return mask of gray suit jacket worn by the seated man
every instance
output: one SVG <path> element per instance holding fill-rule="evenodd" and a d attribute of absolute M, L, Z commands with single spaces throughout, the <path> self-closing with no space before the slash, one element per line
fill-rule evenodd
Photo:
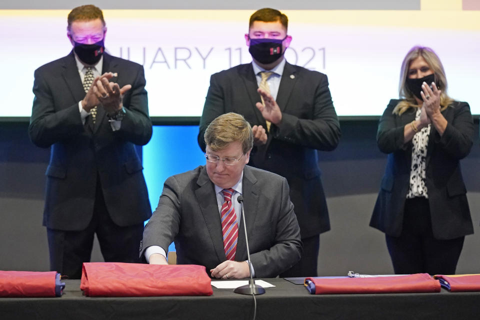
<path fill-rule="evenodd" d="M 256 277 L 273 277 L 295 264 L 301 253 L 300 230 L 286 179 L 245 165 L 242 195 L 250 257 Z M 235 260 L 246 260 L 240 220 Z M 206 168 L 169 177 L 158 207 L 143 231 L 143 251 L 174 240 L 178 264 L 204 265 L 207 270 L 226 260 L 214 185 Z"/>

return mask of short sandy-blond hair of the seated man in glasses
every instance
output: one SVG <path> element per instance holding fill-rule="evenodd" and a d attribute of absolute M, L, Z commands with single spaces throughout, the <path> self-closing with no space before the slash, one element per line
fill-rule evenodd
<path fill-rule="evenodd" d="M 253 132 L 250 123 L 234 112 L 217 116 L 208 124 L 203 135 L 206 145 L 213 151 L 219 151 L 231 142 L 240 142 L 243 154 L 253 146 Z"/>

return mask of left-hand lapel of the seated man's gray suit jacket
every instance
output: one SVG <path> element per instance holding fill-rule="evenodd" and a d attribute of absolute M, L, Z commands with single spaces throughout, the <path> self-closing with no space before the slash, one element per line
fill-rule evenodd
<path fill-rule="evenodd" d="M 225 261 L 225 251 L 223 250 L 223 240 L 221 234 L 220 212 L 216 202 L 215 187 L 206 174 L 206 168 L 203 167 L 197 179 L 198 189 L 195 190 L 196 200 L 200 206 L 203 220 L 210 234 L 210 238 L 219 261 Z"/>

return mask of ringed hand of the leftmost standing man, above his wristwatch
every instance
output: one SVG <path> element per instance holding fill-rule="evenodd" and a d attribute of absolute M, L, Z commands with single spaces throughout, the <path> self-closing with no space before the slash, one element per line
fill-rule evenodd
<path fill-rule="evenodd" d="M 106 74 L 111 74 L 111 76 L 103 76 Z M 118 83 L 108 81 L 113 77 L 113 73 L 107 72 L 103 75 L 95 82 L 95 85 L 92 85 L 92 90 L 105 111 L 113 114 L 121 109 L 123 94 L 131 88 L 131 85 L 126 84 L 120 88 Z"/>

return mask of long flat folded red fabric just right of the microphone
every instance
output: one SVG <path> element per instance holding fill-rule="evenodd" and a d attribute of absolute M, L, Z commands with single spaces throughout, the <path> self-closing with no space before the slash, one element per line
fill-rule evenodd
<path fill-rule="evenodd" d="M 440 292 L 440 282 L 428 273 L 358 278 L 306 278 L 315 294 Z"/>

